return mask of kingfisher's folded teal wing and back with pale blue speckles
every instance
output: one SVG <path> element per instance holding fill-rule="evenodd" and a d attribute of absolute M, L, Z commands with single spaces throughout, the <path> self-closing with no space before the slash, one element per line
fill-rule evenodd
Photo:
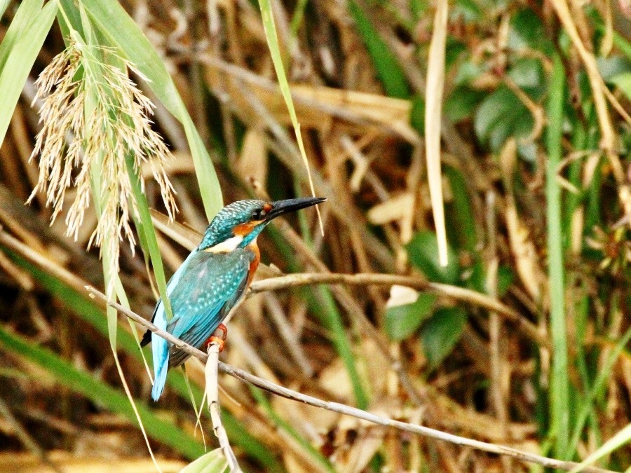
<path fill-rule="evenodd" d="M 194 347 L 204 343 L 245 292 L 253 257 L 242 248 L 192 255 L 169 296 L 173 318 L 167 331 Z M 179 364 L 179 353 L 172 352 L 170 366 Z"/>

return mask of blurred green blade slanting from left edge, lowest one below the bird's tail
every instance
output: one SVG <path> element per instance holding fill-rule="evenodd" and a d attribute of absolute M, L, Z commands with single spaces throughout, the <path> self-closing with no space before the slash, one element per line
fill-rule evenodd
<path fill-rule="evenodd" d="M 135 422 L 136 416 L 127 396 L 95 380 L 90 374 L 75 369 L 50 350 L 30 343 L 21 336 L 11 334 L 4 327 L 0 327 L 0 346 L 7 352 L 38 364 L 46 369 L 58 383 L 74 392 L 80 392 L 103 409 L 121 414 L 131 422 Z M 203 455 L 204 447 L 198 439 L 185 434 L 175 425 L 165 422 L 142 402 L 137 402 L 137 409 L 150 437 L 175 448 L 191 460 Z"/>

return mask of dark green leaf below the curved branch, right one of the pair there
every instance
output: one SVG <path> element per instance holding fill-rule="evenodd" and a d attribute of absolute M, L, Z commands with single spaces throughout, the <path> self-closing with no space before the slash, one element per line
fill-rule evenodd
<path fill-rule="evenodd" d="M 423 325 L 421 342 L 431 368 L 438 366 L 460 340 L 467 322 L 463 308 L 442 308 Z"/>

